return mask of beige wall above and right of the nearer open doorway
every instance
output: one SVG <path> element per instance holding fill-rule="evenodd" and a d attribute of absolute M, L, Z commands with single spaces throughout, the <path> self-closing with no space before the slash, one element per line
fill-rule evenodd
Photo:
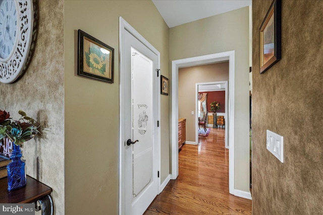
<path fill-rule="evenodd" d="M 170 60 L 231 50 L 235 50 L 235 189 L 249 191 L 249 7 L 170 29 Z"/>

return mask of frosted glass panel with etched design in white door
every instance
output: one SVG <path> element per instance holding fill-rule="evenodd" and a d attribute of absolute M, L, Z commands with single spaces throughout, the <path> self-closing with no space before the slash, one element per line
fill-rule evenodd
<path fill-rule="evenodd" d="M 131 48 L 133 197 L 152 179 L 152 83 L 153 61 Z"/>

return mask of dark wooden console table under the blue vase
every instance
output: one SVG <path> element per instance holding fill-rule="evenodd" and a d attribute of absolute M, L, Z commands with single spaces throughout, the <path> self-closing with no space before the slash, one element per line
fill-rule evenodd
<path fill-rule="evenodd" d="M 52 191 L 47 185 L 27 175 L 25 187 L 8 191 L 7 177 L 0 179 L 0 203 L 35 203 L 36 211 L 41 210 L 42 215 L 53 214 Z M 37 206 L 37 201 L 40 206 Z"/>

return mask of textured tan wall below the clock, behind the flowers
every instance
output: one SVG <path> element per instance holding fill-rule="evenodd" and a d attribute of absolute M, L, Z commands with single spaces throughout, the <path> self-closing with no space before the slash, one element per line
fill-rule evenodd
<path fill-rule="evenodd" d="M 0 84 L 0 109 L 13 118 L 19 118 L 22 109 L 42 124 L 46 141 L 37 138 L 23 144 L 26 173 L 53 189 L 56 214 L 64 214 L 63 1 L 42 0 L 38 8 L 33 58 L 18 82 Z"/>

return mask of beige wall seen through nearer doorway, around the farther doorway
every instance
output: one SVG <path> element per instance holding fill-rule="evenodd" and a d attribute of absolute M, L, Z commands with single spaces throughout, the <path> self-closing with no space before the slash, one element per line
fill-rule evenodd
<path fill-rule="evenodd" d="M 186 118 L 186 141 L 195 142 L 195 84 L 229 80 L 229 62 L 178 70 L 178 117 Z M 196 122 L 197 123 L 197 122 Z"/>

